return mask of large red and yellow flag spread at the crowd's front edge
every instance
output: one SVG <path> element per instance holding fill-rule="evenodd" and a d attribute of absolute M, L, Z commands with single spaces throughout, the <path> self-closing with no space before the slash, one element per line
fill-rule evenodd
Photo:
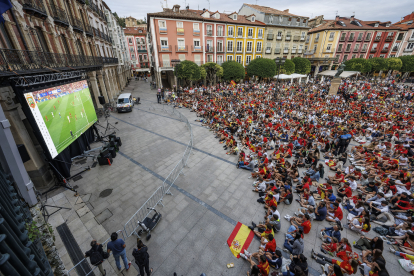
<path fill-rule="evenodd" d="M 249 248 L 253 237 L 254 233 L 249 229 L 249 227 L 240 222 L 237 223 L 229 239 L 227 240 L 230 251 L 236 258 L 240 258 L 240 252 L 243 252 L 245 249 Z"/>

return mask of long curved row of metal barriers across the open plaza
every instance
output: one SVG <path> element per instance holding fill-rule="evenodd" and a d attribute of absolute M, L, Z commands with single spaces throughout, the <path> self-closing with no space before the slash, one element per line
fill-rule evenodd
<path fill-rule="evenodd" d="M 155 110 L 156 106 L 158 106 L 158 104 L 153 104 L 148 108 L 148 110 Z M 171 109 L 168 110 L 169 108 Z M 164 207 L 164 205 L 162 204 L 162 199 L 164 195 L 172 195 L 172 193 L 170 192 L 171 186 L 174 184 L 178 176 L 182 173 L 184 167 L 187 165 L 188 158 L 190 157 L 190 153 L 193 150 L 193 130 L 188 119 L 183 114 L 181 114 L 181 112 L 175 109 L 174 106 L 163 104 L 162 110 L 164 112 L 171 112 L 171 114 L 177 116 L 180 119 L 180 121 L 186 123 L 187 128 L 190 131 L 190 141 L 187 144 L 183 157 L 180 161 L 178 161 L 174 169 L 165 178 L 165 180 L 162 183 L 162 186 L 158 187 L 158 189 L 147 199 L 147 201 L 138 209 L 138 211 L 136 211 L 135 214 L 127 221 L 127 223 L 125 223 L 124 231 L 127 238 L 129 238 L 132 234 L 135 234 L 140 238 L 137 229 L 141 228 L 140 222 L 144 221 L 145 218 L 147 218 L 148 215 L 151 213 L 151 210 L 149 210 L 148 208 L 155 208 L 158 204 Z"/>

